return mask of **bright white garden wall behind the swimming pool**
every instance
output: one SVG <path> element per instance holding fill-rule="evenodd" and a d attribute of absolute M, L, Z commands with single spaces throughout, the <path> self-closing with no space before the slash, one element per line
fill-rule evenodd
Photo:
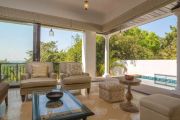
<path fill-rule="evenodd" d="M 127 60 L 128 73 L 154 75 L 177 75 L 176 60 Z"/>

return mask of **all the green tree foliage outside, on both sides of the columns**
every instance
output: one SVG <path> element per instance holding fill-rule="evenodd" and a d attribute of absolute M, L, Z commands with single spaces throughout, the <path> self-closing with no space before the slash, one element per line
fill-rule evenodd
<path fill-rule="evenodd" d="M 170 26 L 171 31 L 161 38 L 157 34 L 140 28 L 132 28 L 113 35 L 110 38 L 110 68 L 125 68 L 123 60 L 142 59 L 176 59 L 177 28 Z M 58 50 L 56 41 L 41 42 L 41 61 L 82 61 L 82 40 L 73 37 L 74 44 L 67 50 Z M 96 36 L 96 71 L 97 76 L 104 73 L 105 40 Z M 32 51 L 28 51 L 27 61 L 32 60 Z M 126 68 L 125 68 L 126 69 Z"/>

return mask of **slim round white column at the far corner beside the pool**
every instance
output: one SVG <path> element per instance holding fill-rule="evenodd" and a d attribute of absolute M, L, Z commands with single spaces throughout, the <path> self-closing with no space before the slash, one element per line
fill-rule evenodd
<path fill-rule="evenodd" d="M 109 77 L 109 39 L 110 35 L 105 35 L 105 71 L 103 77 Z"/>

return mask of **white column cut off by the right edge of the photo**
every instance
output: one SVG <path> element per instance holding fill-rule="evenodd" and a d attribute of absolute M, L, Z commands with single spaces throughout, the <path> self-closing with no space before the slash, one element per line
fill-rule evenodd
<path fill-rule="evenodd" d="M 180 8 L 174 10 L 177 16 L 177 87 L 180 90 Z"/>

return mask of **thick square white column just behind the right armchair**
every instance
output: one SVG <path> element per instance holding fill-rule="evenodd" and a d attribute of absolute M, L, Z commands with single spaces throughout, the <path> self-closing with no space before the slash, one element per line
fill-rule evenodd
<path fill-rule="evenodd" d="M 82 41 L 83 71 L 96 77 L 96 32 L 85 31 Z"/>

